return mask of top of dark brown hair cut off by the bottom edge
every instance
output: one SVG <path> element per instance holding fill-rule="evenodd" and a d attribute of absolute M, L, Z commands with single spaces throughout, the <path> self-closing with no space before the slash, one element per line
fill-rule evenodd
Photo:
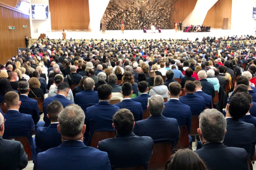
<path fill-rule="evenodd" d="M 189 149 L 178 150 L 166 163 L 165 170 L 207 170 L 197 153 Z"/>

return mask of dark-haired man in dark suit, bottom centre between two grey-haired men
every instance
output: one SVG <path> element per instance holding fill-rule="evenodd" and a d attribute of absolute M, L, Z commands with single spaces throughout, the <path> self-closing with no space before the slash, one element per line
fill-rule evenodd
<path fill-rule="evenodd" d="M 101 140 L 98 144 L 99 150 L 108 153 L 112 169 L 134 166 L 148 169 L 154 143 L 151 137 L 135 136 L 132 132 L 134 124 L 134 116 L 129 110 L 118 110 L 112 124 L 117 132 L 116 137 Z"/>

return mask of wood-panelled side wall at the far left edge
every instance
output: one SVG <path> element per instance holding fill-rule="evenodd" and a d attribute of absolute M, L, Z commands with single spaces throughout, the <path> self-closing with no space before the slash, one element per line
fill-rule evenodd
<path fill-rule="evenodd" d="M 0 63 L 5 64 L 17 55 L 18 47 L 25 47 L 25 36 L 30 37 L 30 19 L 29 15 L 6 7 L 0 6 L 0 11 Z M 15 30 L 9 30 L 8 26 L 15 26 Z"/>

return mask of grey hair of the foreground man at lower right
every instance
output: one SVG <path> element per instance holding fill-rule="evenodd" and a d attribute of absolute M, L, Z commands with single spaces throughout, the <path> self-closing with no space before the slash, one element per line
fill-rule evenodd
<path fill-rule="evenodd" d="M 204 110 L 199 118 L 203 139 L 207 142 L 223 142 L 227 126 L 223 114 L 213 108 Z"/>

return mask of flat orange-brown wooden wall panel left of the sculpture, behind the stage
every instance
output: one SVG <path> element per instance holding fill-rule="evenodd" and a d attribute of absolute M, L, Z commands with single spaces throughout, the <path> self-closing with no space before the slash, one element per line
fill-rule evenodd
<path fill-rule="evenodd" d="M 100 5 L 100 4 L 99 4 Z M 90 22 L 88 0 L 49 0 L 52 30 L 87 30 Z M 97 9 L 95 7 L 95 12 Z"/>

